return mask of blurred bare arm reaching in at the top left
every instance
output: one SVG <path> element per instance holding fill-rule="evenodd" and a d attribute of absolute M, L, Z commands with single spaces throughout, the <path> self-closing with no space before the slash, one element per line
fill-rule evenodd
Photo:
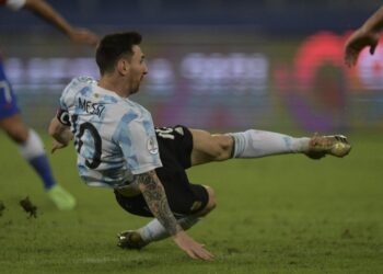
<path fill-rule="evenodd" d="M 96 45 L 98 37 L 88 30 L 76 28 L 69 24 L 49 3 L 44 0 L 25 0 L 24 9 L 27 9 L 47 22 L 55 25 L 68 37 L 78 43 Z"/>

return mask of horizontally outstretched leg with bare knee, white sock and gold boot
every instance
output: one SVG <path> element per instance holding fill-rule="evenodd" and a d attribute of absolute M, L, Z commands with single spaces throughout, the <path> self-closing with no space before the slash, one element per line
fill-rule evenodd
<path fill-rule="evenodd" d="M 326 155 L 346 156 L 351 147 L 341 135 L 312 138 L 248 129 L 242 133 L 210 134 L 190 129 L 193 134 L 192 165 L 230 158 L 259 158 L 282 153 L 305 153 L 312 159 Z"/>

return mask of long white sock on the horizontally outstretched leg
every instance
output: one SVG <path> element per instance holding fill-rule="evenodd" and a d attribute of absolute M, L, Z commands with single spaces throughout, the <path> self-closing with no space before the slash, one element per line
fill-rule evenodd
<path fill-rule="evenodd" d="M 234 138 L 233 158 L 258 158 L 270 155 L 299 153 L 309 149 L 310 138 L 294 138 L 288 135 L 248 129 L 230 133 Z"/>

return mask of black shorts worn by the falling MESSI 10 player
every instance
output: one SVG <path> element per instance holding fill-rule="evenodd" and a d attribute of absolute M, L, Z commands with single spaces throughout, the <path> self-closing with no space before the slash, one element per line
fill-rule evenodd
<path fill-rule="evenodd" d="M 184 126 L 155 128 L 162 168 L 155 170 L 169 205 L 176 218 L 206 207 L 209 195 L 202 185 L 192 184 L 185 172 L 192 164 L 193 136 Z M 134 215 L 153 217 L 142 195 L 123 196 L 115 191 L 118 204 Z"/>

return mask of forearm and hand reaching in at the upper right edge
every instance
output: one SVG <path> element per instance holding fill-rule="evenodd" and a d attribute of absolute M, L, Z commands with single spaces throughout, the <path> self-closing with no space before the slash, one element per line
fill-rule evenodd
<path fill-rule="evenodd" d="M 379 32 L 383 27 L 383 5 L 365 23 L 352 33 L 345 44 L 345 62 L 351 67 L 364 47 L 370 47 L 373 55 L 379 43 Z"/>

